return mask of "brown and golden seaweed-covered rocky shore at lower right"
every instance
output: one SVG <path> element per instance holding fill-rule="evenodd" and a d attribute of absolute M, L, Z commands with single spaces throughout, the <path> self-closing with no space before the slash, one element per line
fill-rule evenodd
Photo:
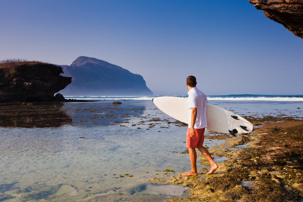
<path fill-rule="evenodd" d="M 168 202 L 302 200 L 303 120 L 248 119 L 257 125 L 253 133 L 230 138 L 223 145 L 210 149 L 212 156 L 228 159 L 218 163 L 215 174 L 206 175 L 204 168 L 198 176 L 182 177 L 181 172 L 166 172 L 162 173 L 163 177 L 151 180 L 191 188 L 189 198 Z M 199 157 L 200 163 L 209 167 L 205 157 L 202 154 Z"/>

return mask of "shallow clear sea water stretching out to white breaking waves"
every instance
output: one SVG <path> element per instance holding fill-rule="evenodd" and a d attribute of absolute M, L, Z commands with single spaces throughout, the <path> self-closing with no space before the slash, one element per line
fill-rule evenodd
<path fill-rule="evenodd" d="M 161 202 L 189 196 L 188 190 L 163 193 L 156 188 L 165 184 L 149 181 L 190 170 L 182 153 L 187 127 L 158 110 L 152 98 L 0 104 L 0 201 Z M 122 104 L 113 105 L 117 100 Z M 208 103 L 241 116 L 303 118 L 303 95 L 208 96 Z M 205 139 L 204 145 L 224 141 Z"/>

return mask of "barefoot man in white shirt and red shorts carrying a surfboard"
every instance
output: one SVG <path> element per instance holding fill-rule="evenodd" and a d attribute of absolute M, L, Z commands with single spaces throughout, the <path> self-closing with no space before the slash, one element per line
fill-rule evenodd
<path fill-rule="evenodd" d="M 189 108 L 189 124 L 186 134 L 186 147 L 190 154 L 192 163 L 192 170 L 182 173 L 183 176 L 198 175 L 197 170 L 197 152 L 196 148 L 203 153 L 210 163 L 210 170 L 207 174 L 216 171 L 218 165 L 213 161 L 209 152 L 203 147 L 204 130 L 207 126 L 206 122 L 206 96 L 196 88 L 196 77 L 189 76 L 186 79 L 186 86 L 188 87 L 188 108 Z"/>

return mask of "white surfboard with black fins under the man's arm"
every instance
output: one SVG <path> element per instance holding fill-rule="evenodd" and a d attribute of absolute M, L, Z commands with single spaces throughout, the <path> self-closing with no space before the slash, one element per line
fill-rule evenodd
<path fill-rule="evenodd" d="M 187 98 L 157 97 L 153 103 L 167 115 L 188 124 Z M 227 133 L 233 136 L 247 134 L 253 131 L 253 124 L 245 118 L 226 109 L 207 104 L 206 130 Z"/>

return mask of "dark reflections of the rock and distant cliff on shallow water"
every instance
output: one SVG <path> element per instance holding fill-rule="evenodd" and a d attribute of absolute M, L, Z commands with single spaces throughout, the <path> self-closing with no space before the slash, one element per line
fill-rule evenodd
<path fill-rule="evenodd" d="M 143 104 L 110 101 L 94 103 L 43 103 L 0 105 L 0 127 L 50 128 L 62 125 L 100 127 L 129 123 L 141 116 L 146 109 Z"/>

